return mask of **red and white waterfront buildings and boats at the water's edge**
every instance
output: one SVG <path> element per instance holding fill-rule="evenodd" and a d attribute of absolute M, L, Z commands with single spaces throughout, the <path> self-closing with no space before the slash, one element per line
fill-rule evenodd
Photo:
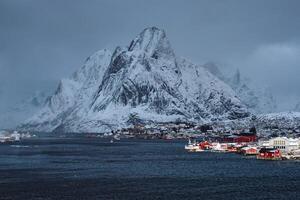
<path fill-rule="evenodd" d="M 275 137 L 258 140 L 256 133 L 229 135 L 214 142 L 189 140 L 185 149 L 190 152 L 211 151 L 255 155 L 257 159 L 263 160 L 300 159 L 299 138 Z"/>

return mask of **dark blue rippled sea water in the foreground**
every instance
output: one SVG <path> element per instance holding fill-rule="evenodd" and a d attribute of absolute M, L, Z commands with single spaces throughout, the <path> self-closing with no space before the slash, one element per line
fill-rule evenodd
<path fill-rule="evenodd" d="M 0 144 L 0 199 L 300 199 L 300 162 L 187 153 L 183 141 Z"/>

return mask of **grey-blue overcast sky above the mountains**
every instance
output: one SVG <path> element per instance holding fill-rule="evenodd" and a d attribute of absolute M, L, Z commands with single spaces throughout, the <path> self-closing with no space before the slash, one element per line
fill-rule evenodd
<path fill-rule="evenodd" d="M 93 52 L 157 26 L 178 56 L 239 68 L 291 109 L 300 102 L 299 8 L 298 0 L 0 0 L 0 106 L 54 90 Z"/>

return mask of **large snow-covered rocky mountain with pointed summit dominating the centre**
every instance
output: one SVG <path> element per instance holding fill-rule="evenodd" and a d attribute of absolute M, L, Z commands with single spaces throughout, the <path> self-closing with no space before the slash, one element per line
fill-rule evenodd
<path fill-rule="evenodd" d="M 101 50 L 63 79 L 22 129 L 104 132 L 141 120 L 210 121 L 249 116 L 230 86 L 175 56 L 163 30 L 143 30 L 126 48 Z"/>

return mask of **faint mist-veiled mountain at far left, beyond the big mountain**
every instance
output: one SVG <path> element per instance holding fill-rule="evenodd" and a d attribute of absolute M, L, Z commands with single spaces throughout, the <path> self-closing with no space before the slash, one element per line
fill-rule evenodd
<path fill-rule="evenodd" d="M 37 91 L 14 106 L 1 109 L 0 128 L 15 128 L 44 106 L 47 94 Z"/>

